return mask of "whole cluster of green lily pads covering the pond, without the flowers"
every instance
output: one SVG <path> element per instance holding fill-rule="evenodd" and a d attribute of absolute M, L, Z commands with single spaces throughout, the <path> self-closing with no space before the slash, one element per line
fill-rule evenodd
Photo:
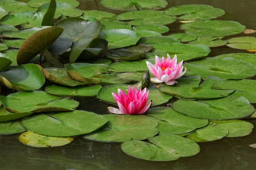
<path fill-rule="evenodd" d="M 207 5 L 100 3 L 123 13 L 83 11 L 77 0 L 0 1 L 1 135 L 21 133 L 19 141 L 32 147 L 82 136 L 120 142 L 136 158 L 172 161 L 199 153 L 197 142 L 252 132 L 240 119 L 256 117 L 256 38 L 234 36 L 245 26 L 212 20 L 225 12 Z M 219 46 L 244 53 L 215 56 Z M 167 54 L 185 62 L 186 74 L 172 86 L 150 83 L 146 61 Z M 77 110 L 86 97 L 115 107 L 111 92 L 129 85 L 149 89 L 144 115 Z"/>

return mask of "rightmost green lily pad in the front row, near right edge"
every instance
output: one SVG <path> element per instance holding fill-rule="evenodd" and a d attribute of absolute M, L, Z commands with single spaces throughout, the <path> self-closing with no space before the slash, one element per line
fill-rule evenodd
<path fill-rule="evenodd" d="M 249 135 L 253 131 L 253 124 L 243 120 L 211 120 L 210 123 L 226 127 L 229 133 L 226 137 L 240 137 Z"/>

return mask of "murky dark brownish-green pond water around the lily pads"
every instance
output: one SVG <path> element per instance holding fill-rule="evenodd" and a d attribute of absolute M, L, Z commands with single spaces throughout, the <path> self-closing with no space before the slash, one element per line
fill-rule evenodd
<path fill-rule="evenodd" d="M 100 10 L 119 14 L 104 8 L 99 0 L 79 0 L 82 10 Z M 222 8 L 226 14 L 220 20 L 233 20 L 249 29 L 256 29 L 255 0 L 167 0 L 171 6 L 207 4 Z M 120 0 L 121 2 L 121 0 Z M 172 31 L 179 24 L 169 25 Z M 236 35 L 237 36 L 237 35 Z M 210 55 L 238 52 L 231 48 L 214 48 Z M 242 51 L 244 52 L 244 51 Z M 106 104 L 98 99 L 80 100 L 78 110 L 108 113 Z M 256 126 L 256 120 L 250 120 Z M 58 148 L 33 148 L 18 142 L 18 135 L 0 136 L 0 169 L 2 170 L 254 170 L 256 167 L 256 129 L 244 137 L 225 138 L 199 143 L 201 152 L 176 161 L 154 162 L 137 159 L 122 152 L 118 143 L 100 143 L 77 137 L 74 142 Z"/>

